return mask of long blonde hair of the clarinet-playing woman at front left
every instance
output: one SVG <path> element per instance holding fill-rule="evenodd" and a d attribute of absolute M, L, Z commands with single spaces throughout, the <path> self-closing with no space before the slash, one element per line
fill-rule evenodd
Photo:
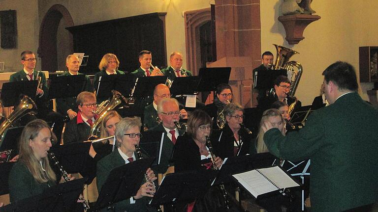
<path fill-rule="evenodd" d="M 21 133 L 20 137 L 20 143 L 19 143 L 19 162 L 22 162 L 28 167 L 29 171 L 32 173 L 32 176 L 38 183 L 46 183 L 48 181 L 56 181 L 56 176 L 52 168 L 49 164 L 49 159 L 43 158 L 41 163 L 39 163 L 38 159 L 35 158 L 33 154 L 32 147 L 30 147 L 29 143 L 30 140 L 35 139 L 38 136 L 38 133 L 44 129 L 47 128 L 50 130 L 51 133 L 51 139 L 57 139 L 55 134 L 51 131 L 51 128 L 49 125 L 41 120 L 36 119 L 31 122 L 29 122 L 24 130 Z M 43 171 L 42 166 L 44 166 L 44 169 L 46 171 Z"/>

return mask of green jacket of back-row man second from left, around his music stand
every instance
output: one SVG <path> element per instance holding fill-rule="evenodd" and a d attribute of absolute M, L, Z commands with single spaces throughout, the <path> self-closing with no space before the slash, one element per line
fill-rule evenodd
<path fill-rule="evenodd" d="M 78 75 L 83 75 L 78 73 Z M 71 76 L 68 72 L 59 75 L 60 76 Z M 83 91 L 93 92 L 93 86 L 91 83 L 91 79 L 88 76 L 85 76 L 86 83 Z M 63 115 L 67 115 L 67 110 L 72 109 L 73 111 L 77 112 L 78 108 L 76 105 L 76 97 L 67 97 L 67 98 L 59 98 L 57 99 L 57 110 L 59 113 Z"/>

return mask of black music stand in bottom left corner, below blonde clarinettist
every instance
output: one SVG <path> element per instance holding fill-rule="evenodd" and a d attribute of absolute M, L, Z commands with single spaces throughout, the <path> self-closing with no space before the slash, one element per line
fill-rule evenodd
<path fill-rule="evenodd" d="M 35 195 L 0 208 L 0 212 L 71 212 L 83 191 L 84 179 L 54 185 Z"/>

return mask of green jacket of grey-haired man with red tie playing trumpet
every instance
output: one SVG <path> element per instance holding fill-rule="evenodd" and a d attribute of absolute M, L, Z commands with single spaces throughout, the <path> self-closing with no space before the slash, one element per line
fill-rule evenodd
<path fill-rule="evenodd" d="M 158 126 L 150 129 L 149 131 L 156 131 L 156 132 L 165 132 L 164 138 L 163 138 L 163 147 L 161 150 L 161 157 L 160 157 L 160 164 L 154 167 L 154 170 L 157 173 L 165 173 L 169 166 L 174 165 L 171 161 L 172 158 L 172 151 L 174 144 L 172 143 L 172 140 L 169 139 L 168 135 L 166 134 L 166 131 L 162 124 L 159 124 Z M 179 135 L 183 135 L 184 131 L 178 129 L 179 134 L 176 134 L 176 138 Z M 158 159 L 157 159 L 158 160 Z"/>

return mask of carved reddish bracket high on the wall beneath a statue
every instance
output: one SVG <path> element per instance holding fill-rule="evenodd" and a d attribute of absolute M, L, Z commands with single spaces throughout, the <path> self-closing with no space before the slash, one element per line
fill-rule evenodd
<path fill-rule="evenodd" d="M 311 22 L 320 19 L 318 15 L 286 15 L 278 17 L 278 20 L 284 25 L 286 31 L 285 39 L 289 44 L 297 44 L 299 41 L 305 39 L 303 31 Z"/>

